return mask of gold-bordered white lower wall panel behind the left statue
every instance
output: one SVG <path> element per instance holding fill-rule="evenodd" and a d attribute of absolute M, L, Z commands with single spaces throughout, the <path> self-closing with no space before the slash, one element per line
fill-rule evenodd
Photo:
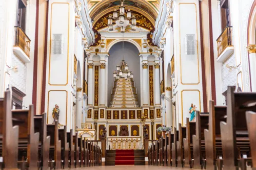
<path fill-rule="evenodd" d="M 53 109 L 57 105 L 60 109 L 58 122 L 62 125 L 67 124 L 67 107 L 68 107 L 68 92 L 66 90 L 50 90 L 48 91 L 48 109 L 47 109 L 47 124 L 53 123 Z"/>

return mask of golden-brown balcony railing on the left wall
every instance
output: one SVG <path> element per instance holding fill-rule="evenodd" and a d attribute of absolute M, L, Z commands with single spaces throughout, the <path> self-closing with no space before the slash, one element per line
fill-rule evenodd
<path fill-rule="evenodd" d="M 15 26 L 15 44 L 14 46 L 18 46 L 22 48 L 24 53 L 29 57 L 29 51 L 30 51 L 30 39 L 25 34 L 25 32 L 22 30 L 21 27 Z"/>

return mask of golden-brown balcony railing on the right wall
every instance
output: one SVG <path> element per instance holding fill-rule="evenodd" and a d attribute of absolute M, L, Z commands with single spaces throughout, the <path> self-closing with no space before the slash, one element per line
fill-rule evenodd
<path fill-rule="evenodd" d="M 216 40 L 218 43 L 218 57 L 228 46 L 233 46 L 232 34 L 232 27 L 226 27 L 219 38 Z"/>

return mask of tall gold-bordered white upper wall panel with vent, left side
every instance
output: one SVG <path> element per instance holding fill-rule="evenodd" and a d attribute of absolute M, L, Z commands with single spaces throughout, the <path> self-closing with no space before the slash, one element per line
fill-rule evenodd
<path fill-rule="evenodd" d="M 68 84 L 69 13 L 69 3 L 51 4 L 48 80 L 50 85 Z M 53 41 L 56 34 L 59 35 L 60 44 Z M 61 52 L 56 54 L 56 48 L 61 49 Z"/>

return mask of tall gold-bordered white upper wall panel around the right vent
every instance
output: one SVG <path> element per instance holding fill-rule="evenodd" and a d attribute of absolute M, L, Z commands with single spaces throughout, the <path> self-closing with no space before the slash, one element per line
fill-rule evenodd
<path fill-rule="evenodd" d="M 196 5 L 193 3 L 180 3 L 179 10 L 181 83 L 199 84 L 199 39 Z M 193 55 L 186 55 L 185 39 L 187 35 L 194 35 L 195 49 Z"/>

